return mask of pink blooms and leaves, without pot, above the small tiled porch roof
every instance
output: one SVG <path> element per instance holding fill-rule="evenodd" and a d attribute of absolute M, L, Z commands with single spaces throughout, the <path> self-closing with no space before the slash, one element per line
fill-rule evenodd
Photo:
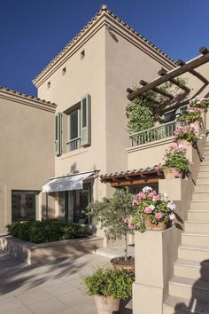
<path fill-rule="evenodd" d="M 187 150 L 183 145 L 177 145 L 176 143 L 170 145 L 166 149 L 166 153 L 163 158 L 162 169 L 174 168 L 176 169 L 176 177 L 179 174 L 188 175 L 190 172 L 189 165 L 190 161 L 186 157 Z"/>

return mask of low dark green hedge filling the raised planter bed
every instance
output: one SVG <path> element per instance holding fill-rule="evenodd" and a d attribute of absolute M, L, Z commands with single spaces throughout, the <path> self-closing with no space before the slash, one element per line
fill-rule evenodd
<path fill-rule="evenodd" d="M 56 219 L 35 220 L 12 223 L 8 226 L 8 232 L 19 239 L 45 243 L 63 239 L 84 238 L 87 236 L 88 227 Z"/>

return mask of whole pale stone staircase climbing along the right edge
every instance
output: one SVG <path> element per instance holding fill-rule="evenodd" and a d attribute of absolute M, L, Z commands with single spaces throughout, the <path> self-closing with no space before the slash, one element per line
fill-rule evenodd
<path fill-rule="evenodd" d="M 209 314 L 209 142 L 204 157 L 163 314 Z"/>

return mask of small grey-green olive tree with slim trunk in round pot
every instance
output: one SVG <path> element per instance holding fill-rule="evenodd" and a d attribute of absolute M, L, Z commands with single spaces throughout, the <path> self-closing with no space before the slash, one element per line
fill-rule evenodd
<path fill-rule="evenodd" d="M 129 271 L 134 271 L 135 267 L 134 257 L 128 256 L 128 233 L 133 231 L 128 228 L 123 218 L 130 215 L 132 200 L 133 194 L 128 193 L 126 189 L 118 189 L 112 198 L 96 200 L 89 204 L 86 212 L 100 224 L 108 241 L 124 239 L 124 255 L 113 258 L 111 262 Z"/>

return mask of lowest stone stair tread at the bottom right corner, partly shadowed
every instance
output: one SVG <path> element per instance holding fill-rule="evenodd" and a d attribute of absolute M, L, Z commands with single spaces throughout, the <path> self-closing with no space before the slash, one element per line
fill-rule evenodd
<path fill-rule="evenodd" d="M 173 309 L 175 308 L 175 310 L 177 310 L 176 313 L 181 313 L 180 310 L 182 310 L 182 313 L 209 314 L 208 302 L 198 301 L 197 305 L 195 305 L 195 310 L 193 310 L 192 305 L 190 309 L 190 300 L 168 295 L 165 304 L 171 306 Z"/>

